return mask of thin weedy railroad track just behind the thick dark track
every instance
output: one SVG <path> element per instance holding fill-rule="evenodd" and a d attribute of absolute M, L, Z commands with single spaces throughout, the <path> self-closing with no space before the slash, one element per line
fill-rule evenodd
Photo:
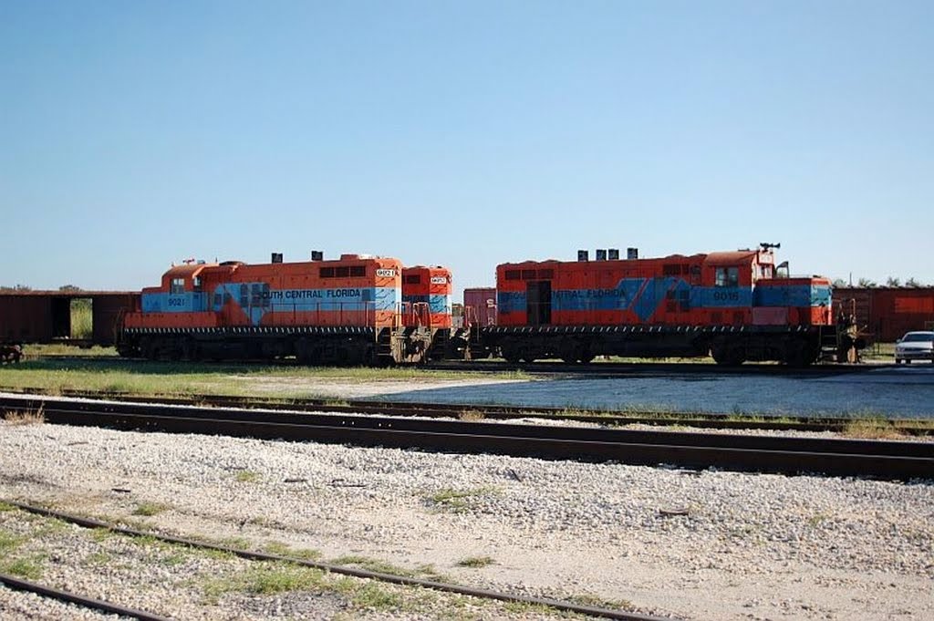
<path fill-rule="evenodd" d="M 21 394 L 45 394 L 41 388 L 8 390 Z M 63 397 L 97 399 L 131 403 L 162 403 L 164 405 L 210 405 L 236 409 L 287 410 L 301 412 L 336 412 L 345 414 L 372 414 L 381 416 L 421 416 L 427 418 L 474 418 L 485 420 L 520 420 L 530 417 L 573 422 L 595 423 L 607 427 L 644 424 L 654 426 L 695 427 L 717 430 L 777 430 L 777 431 L 835 431 L 841 432 L 854 422 L 854 418 L 830 416 L 751 417 L 724 414 L 687 412 L 626 412 L 521 405 L 476 405 L 469 403 L 431 402 L 378 402 L 369 400 L 326 399 L 259 399 L 227 395 L 140 396 L 93 390 L 61 390 Z M 906 435 L 934 435 L 934 425 L 912 418 L 892 418 L 885 421 L 893 430 Z"/>

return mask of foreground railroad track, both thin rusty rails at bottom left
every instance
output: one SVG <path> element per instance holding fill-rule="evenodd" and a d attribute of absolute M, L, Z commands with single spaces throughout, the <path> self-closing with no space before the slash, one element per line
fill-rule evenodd
<path fill-rule="evenodd" d="M 177 545 L 184 545 L 193 549 L 202 549 L 202 550 L 213 550 L 218 552 L 224 552 L 231 554 L 236 557 L 247 558 L 249 560 L 268 560 L 268 561 L 279 561 L 279 562 L 288 562 L 295 565 L 302 565 L 304 567 L 310 567 L 325 572 L 339 573 L 343 575 L 354 576 L 358 578 L 369 578 L 371 580 L 378 580 L 380 582 L 386 582 L 395 585 L 402 586 L 420 586 L 423 588 L 430 588 L 436 591 L 445 591 L 447 593 L 458 593 L 460 595 L 467 595 L 474 598 L 480 598 L 484 600 L 501 600 L 509 601 L 523 604 L 530 604 L 533 606 L 547 606 L 548 608 L 554 609 L 556 611 L 563 611 L 575 614 L 585 614 L 591 617 L 600 617 L 606 619 L 618 619 L 619 621 L 672 621 L 670 617 L 662 619 L 658 616 L 652 616 L 648 614 L 639 614 L 631 613 L 627 611 L 612 610 L 608 608 L 601 608 L 599 606 L 587 606 L 583 604 L 576 604 L 570 601 L 563 600 L 552 600 L 547 598 L 531 598 L 522 595 L 514 595 L 511 593 L 504 593 L 502 591 L 493 591 L 482 588 L 473 588 L 470 586 L 461 586 L 451 583 L 436 582 L 433 580 L 425 580 L 421 578 L 413 578 L 410 576 L 401 576 L 392 573 L 384 572 L 371 572 L 369 570 L 362 570 L 353 567 L 347 567 L 344 565 L 334 565 L 332 563 L 323 563 L 313 560 L 308 560 L 307 558 L 300 557 L 287 557 L 275 554 L 268 554 L 263 552 L 257 552 L 253 550 L 244 550 L 241 548 L 234 548 L 225 545 L 218 545 L 213 543 L 205 543 L 203 541 L 195 541 L 191 539 L 184 539 L 180 537 L 173 537 L 165 535 L 157 531 L 149 530 L 139 530 L 139 529 L 127 529 L 123 527 L 116 526 L 114 524 L 109 524 L 101 520 L 93 519 L 91 517 L 85 517 L 81 515 L 71 515 L 65 514 L 59 511 L 53 511 L 45 507 L 37 507 L 34 505 L 26 504 L 19 501 L 7 501 L 4 500 L 6 504 L 12 505 L 35 515 L 43 515 L 45 517 L 52 517 L 55 519 L 68 522 L 70 524 L 75 524 L 88 529 L 106 529 L 110 532 L 119 533 L 122 535 L 127 535 L 130 537 L 148 537 L 151 539 L 157 539 L 165 543 L 173 543 Z M 95 608 L 99 610 L 104 610 L 105 612 L 113 612 L 116 614 L 123 614 L 125 616 L 135 617 L 143 621 L 167 621 L 165 617 L 156 616 L 149 613 L 143 613 L 140 611 L 134 611 L 133 609 L 122 608 L 109 602 L 103 602 L 100 600 L 91 600 L 88 598 L 82 598 L 71 593 L 65 593 L 64 591 L 59 591 L 57 589 L 52 589 L 45 586 L 35 585 L 34 583 L 27 583 L 16 578 L 9 577 L 10 583 L 9 586 L 13 588 L 20 588 L 21 590 L 30 590 L 47 597 L 51 597 L 58 600 L 71 601 L 78 603 L 79 605 Z M 7 582 L 4 580 L 4 576 L 0 574 L 0 582 Z"/>

